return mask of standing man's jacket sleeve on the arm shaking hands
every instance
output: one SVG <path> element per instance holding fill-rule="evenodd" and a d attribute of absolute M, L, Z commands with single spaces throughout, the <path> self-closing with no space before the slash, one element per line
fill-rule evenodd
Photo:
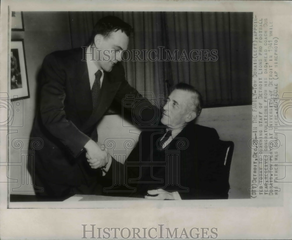
<path fill-rule="evenodd" d="M 57 59 L 48 55 L 42 65 L 40 116 L 45 128 L 77 157 L 90 140 L 69 119 L 64 111 L 66 73 Z"/>

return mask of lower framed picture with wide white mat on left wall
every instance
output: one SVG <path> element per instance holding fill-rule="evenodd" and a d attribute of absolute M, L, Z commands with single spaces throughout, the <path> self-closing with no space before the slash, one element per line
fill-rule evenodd
<path fill-rule="evenodd" d="M 8 78 L 8 89 L 11 100 L 29 98 L 23 39 L 11 40 L 10 77 Z"/>

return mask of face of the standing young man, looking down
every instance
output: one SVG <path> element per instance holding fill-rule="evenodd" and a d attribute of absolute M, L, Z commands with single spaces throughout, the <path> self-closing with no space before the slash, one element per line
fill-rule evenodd
<path fill-rule="evenodd" d="M 106 72 L 110 72 L 115 63 L 121 61 L 122 50 L 128 48 L 129 37 L 121 30 L 112 32 L 108 37 L 95 36 L 95 64 Z"/>

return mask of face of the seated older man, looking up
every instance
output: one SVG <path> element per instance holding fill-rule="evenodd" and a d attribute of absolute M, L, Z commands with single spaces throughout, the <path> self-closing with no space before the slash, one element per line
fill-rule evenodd
<path fill-rule="evenodd" d="M 183 128 L 192 109 L 192 94 L 189 91 L 175 89 L 168 96 L 168 101 L 163 107 L 161 123 L 171 129 Z"/>

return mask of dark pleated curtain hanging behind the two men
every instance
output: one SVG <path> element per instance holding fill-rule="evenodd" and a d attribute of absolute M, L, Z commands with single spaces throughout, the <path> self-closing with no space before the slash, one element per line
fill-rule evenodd
<path fill-rule="evenodd" d="M 107 15 L 134 28 L 128 49 L 140 51 L 140 59 L 142 50 L 156 50 L 150 58 L 160 60 L 159 52 L 162 59 L 177 53 L 171 61 L 124 61 L 126 78 L 138 91 L 157 98 L 185 82 L 201 92 L 205 107 L 251 104 L 253 13 L 69 12 L 72 47 L 86 45 L 94 24 Z"/>

